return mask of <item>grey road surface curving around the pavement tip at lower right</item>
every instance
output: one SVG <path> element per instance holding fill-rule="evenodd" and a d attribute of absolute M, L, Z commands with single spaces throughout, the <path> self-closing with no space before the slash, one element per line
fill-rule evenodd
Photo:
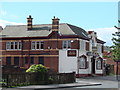
<path fill-rule="evenodd" d="M 77 78 L 77 82 L 92 82 L 101 83 L 102 85 L 97 86 L 84 86 L 84 87 L 74 87 L 74 88 L 63 88 L 54 90 L 120 90 L 120 81 L 116 80 L 115 76 L 102 76 L 102 77 L 84 77 Z M 119 89 L 118 89 L 119 88 Z"/>

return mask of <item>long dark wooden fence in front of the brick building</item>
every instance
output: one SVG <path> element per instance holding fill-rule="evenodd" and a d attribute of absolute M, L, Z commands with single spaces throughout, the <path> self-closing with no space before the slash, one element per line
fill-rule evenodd
<path fill-rule="evenodd" d="M 3 73 L 3 87 L 75 82 L 75 73 Z"/>

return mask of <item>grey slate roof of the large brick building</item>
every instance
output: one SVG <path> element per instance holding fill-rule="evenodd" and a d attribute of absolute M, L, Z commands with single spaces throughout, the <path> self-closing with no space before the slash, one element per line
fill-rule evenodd
<path fill-rule="evenodd" d="M 6 37 L 40 37 L 48 36 L 52 32 L 52 24 L 33 25 L 32 30 L 27 30 L 27 25 L 8 25 L 1 33 L 3 38 Z M 83 39 L 89 39 L 87 32 L 77 26 L 67 23 L 59 24 L 60 35 L 79 35 Z"/>

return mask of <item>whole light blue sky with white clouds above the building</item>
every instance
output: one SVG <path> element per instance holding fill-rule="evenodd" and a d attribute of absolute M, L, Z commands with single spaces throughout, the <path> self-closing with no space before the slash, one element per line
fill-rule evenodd
<path fill-rule="evenodd" d="M 26 24 L 29 15 L 33 24 L 51 24 L 56 16 L 60 23 L 96 31 L 111 46 L 114 26 L 118 26 L 118 2 L 0 2 L 0 26 Z"/>

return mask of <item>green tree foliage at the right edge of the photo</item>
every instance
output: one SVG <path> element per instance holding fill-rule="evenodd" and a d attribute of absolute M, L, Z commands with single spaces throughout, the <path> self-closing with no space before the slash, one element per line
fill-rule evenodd
<path fill-rule="evenodd" d="M 115 32 L 112 38 L 113 41 L 113 46 L 111 46 L 112 48 L 112 52 L 113 52 L 113 60 L 119 60 L 120 59 L 120 32 Z"/>

